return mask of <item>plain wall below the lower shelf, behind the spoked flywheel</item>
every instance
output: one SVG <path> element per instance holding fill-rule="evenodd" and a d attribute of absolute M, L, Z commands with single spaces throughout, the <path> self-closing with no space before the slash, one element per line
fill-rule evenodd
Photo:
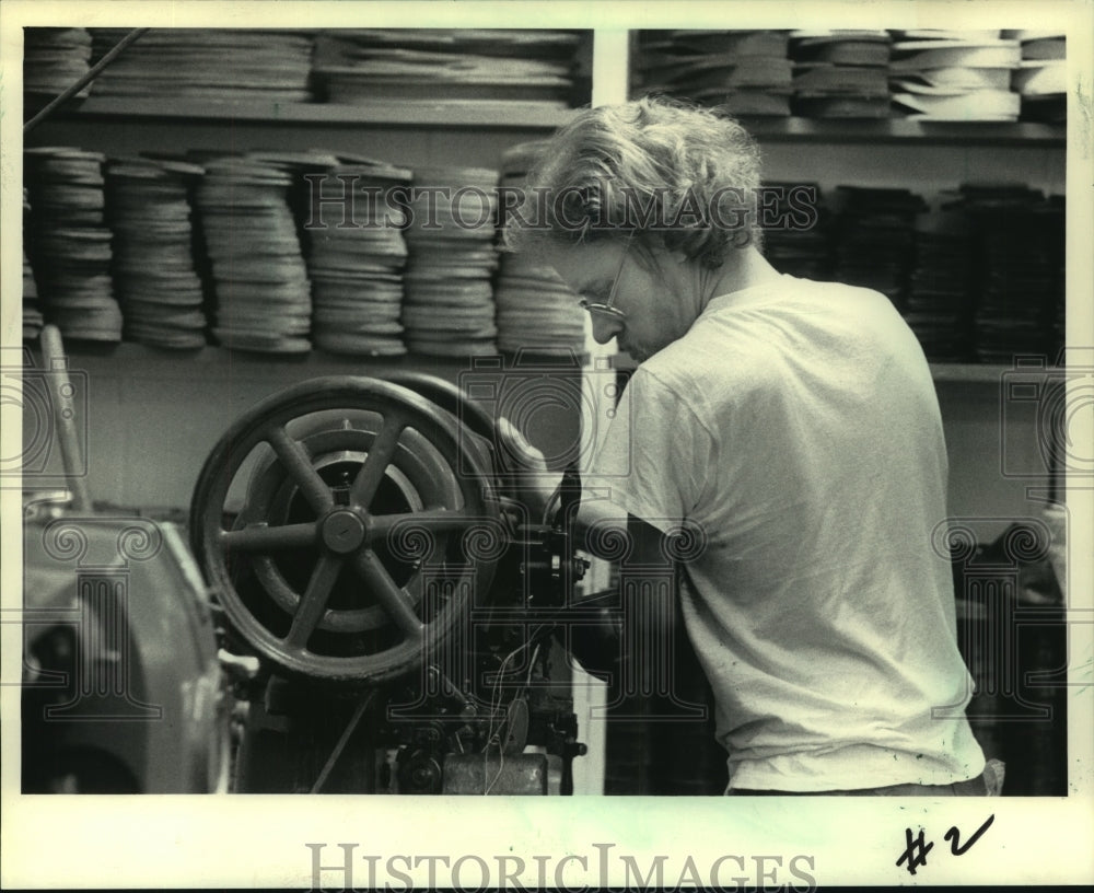
<path fill-rule="evenodd" d="M 83 420 L 88 483 L 95 501 L 142 509 L 185 509 L 201 465 L 229 425 L 258 401 L 291 384 L 327 375 L 383 378 L 400 369 L 428 371 L 445 381 L 462 374 L 493 379 L 504 372 L 480 372 L 466 363 L 422 358 L 376 361 L 313 353 L 271 359 L 232 355 L 219 349 L 176 355 L 140 345 L 78 346 L 69 351 L 69 370 Z M 511 358 L 507 360 L 512 370 Z M 40 357 L 35 363 L 42 367 Z M 534 367 L 551 382 L 559 401 L 580 393 L 580 369 Z M 494 402 L 479 401 L 490 411 L 505 410 L 520 380 L 509 378 L 511 392 Z M 24 401 L 24 443 L 35 440 L 39 402 Z M 527 437 L 552 465 L 562 467 L 577 450 L 579 416 L 562 405 L 544 405 L 525 419 Z M 49 472 L 61 472 L 59 450 L 49 456 Z M 53 475 L 38 486 L 61 485 Z"/>

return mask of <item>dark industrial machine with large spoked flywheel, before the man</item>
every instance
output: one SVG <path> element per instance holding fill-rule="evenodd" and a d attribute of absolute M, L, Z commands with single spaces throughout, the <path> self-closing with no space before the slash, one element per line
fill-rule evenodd
<path fill-rule="evenodd" d="M 580 485 L 531 518 L 494 425 L 441 379 L 335 376 L 214 447 L 190 541 L 241 705 L 233 790 L 572 792 Z"/>

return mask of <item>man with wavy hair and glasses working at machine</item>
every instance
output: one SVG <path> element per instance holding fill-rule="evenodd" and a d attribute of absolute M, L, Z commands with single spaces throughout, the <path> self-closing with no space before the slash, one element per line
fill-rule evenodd
<path fill-rule="evenodd" d="M 698 531 L 679 598 L 728 793 L 998 789 L 964 716 L 927 361 L 884 295 L 767 263 L 758 185 L 736 123 L 652 100 L 581 113 L 529 174 L 511 245 L 640 362 L 579 534 Z"/>

